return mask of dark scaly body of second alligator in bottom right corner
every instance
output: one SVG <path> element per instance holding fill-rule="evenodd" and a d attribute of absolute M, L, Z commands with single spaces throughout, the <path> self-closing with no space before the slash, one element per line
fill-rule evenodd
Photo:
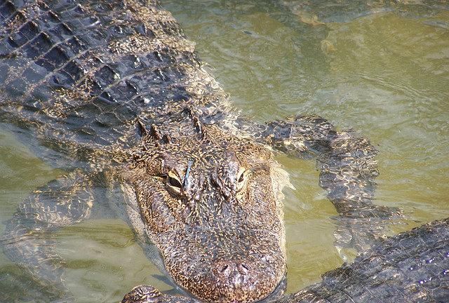
<path fill-rule="evenodd" d="M 379 241 L 282 303 L 448 302 L 449 218 Z"/>

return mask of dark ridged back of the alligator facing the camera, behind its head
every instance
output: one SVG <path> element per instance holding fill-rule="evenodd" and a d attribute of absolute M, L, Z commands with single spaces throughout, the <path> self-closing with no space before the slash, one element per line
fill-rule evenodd
<path fill-rule="evenodd" d="M 129 144 L 138 116 L 163 121 L 168 104 L 212 107 L 205 95 L 222 91 L 156 5 L 0 0 L 1 121 L 60 149 L 105 147 Z"/>

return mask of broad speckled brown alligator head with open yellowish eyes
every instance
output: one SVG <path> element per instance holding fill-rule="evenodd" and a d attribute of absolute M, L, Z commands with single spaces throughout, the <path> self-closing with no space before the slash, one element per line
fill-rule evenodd
<path fill-rule="evenodd" d="M 260 144 L 214 126 L 169 129 L 152 126 L 128 170 L 168 273 L 206 302 L 267 297 L 286 272 L 286 172 Z"/>

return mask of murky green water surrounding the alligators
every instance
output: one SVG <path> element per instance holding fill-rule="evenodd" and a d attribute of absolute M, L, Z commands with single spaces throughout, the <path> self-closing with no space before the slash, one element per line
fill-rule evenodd
<path fill-rule="evenodd" d="M 165 0 L 163 6 L 244 114 L 259 121 L 319 114 L 370 138 L 380 150 L 376 202 L 403 210 L 404 224 L 392 227 L 398 232 L 449 217 L 449 8 L 447 1 L 378 2 Z M 336 212 L 318 186 L 314 161 L 278 159 L 297 189 L 287 189 L 285 201 L 293 292 L 342 260 L 333 246 Z M 0 170 L 0 221 L 60 174 L 6 131 Z M 119 220 L 62 229 L 58 241 L 78 302 L 119 301 L 141 283 L 170 289 Z M 0 271 L 11 281 L 20 272 L 1 253 Z"/>

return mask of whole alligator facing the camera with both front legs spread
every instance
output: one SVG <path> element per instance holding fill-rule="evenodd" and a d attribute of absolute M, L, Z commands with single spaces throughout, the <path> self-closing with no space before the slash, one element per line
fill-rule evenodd
<path fill-rule="evenodd" d="M 53 233 L 105 200 L 197 299 L 254 302 L 283 288 L 291 184 L 278 152 L 316 159 L 337 247 L 366 250 L 400 215 L 373 203 L 368 140 L 319 116 L 246 119 L 155 0 L 0 0 L 0 121 L 67 172 L 20 203 L 1 236 L 48 300 L 70 299 Z"/>

